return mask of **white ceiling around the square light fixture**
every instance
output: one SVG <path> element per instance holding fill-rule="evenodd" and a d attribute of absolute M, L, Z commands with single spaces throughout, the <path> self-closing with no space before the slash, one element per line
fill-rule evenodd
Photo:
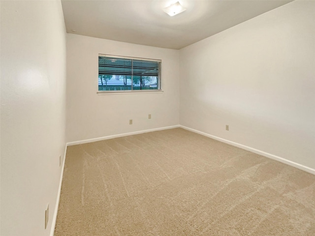
<path fill-rule="evenodd" d="M 62 0 L 67 33 L 181 49 L 292 0 Z M 73 32 L 75 30 L 76 32 Z"/>

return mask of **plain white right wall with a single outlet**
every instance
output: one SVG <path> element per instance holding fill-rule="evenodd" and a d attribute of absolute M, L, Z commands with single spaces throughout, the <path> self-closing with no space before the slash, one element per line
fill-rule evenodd
<path fill-rule="evenodd" d="M 181 125 L 315 169 L 314 1 L 181 49 L 180 79 Z"/>

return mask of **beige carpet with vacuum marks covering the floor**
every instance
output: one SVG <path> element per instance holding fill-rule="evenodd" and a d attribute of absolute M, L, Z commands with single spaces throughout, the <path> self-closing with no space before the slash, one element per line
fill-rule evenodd
<path fill-rule="evenodd" d="M 315 175 L 172 129 L 67 149 L 55 236 L 315 236 Z"/>

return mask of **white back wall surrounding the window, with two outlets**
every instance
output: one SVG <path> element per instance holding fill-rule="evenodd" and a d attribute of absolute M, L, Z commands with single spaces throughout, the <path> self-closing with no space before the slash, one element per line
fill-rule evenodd
<path fill-rule="evenodd" d="M 97 95 L 98 54 L 161 59 L 164 92 Z M 67 34 L 66 93 L 67 142 L 178 125 L 179 51 Z"/>

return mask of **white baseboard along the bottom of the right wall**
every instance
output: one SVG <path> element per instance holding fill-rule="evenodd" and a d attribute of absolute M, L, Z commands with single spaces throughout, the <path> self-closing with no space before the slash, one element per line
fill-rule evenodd
<path fill-rule="evenodd" d="M 218 140 L 218 141 L 221 141 L 221 142 L 230 144 L 230 145 L 232 145 L 232 146 L 245 149 L 245 150 L 247 150 L 247 151 L 256 153 L 256 154 L 258 154 L 258 155 L 261 155 L 261 156 L 264 156 L 264 157 L 268 157 L 268 158 L 270 158 L 270 159 L 273 159 L 273 160 L 282 162 L 282 163 L 287 164 L 287 165 L 289 165 L 289 166 L 292 166 L 292 167 L 295 167 L 295 168 L 298 168 L 298 169 L 302 169 L 302 170 L 307 171 L 307 172 L 309 172 L 309 173 L 311 173 L 311 174 L 315 174 L 315 169 L 310 168 L 310 167 L 307 167 L 307 166 L 303 166 L 303 165 L 301 165 L 301 164 L 298 164 L 298 163 L 296 163 L 296 162 L 292 162 L 292 161 L 287 160 L 287 159 L 284 159 L 284 158 L 282 158 L 282 157 L 278 157 L 278 156 L 276 156 L 276 155 L 273 155 L 273 154 L 270 154 L 270 153 L 267 153 L 267 152 L 264 152 L 264 151 L 261 151 L 261 150 L 258 150 L 258 149 L 255 149 L 255 148 L 252 148 L 252 147 L 249 147 L 249 146 L 246 146 L 246 145 L 237 143 L 237 142 L 233 142 L 233 141 L 230 141 L 230 140 L 221 138 L 221 137 L 217 137 L 217 136 L 214 136 L 214 135 L 209 135 L 209 134 L 203 133 L 203 132 L 201 132 L 201 131 L 188 128 L 188 127 L 186 127 L 186 126 L 180 125 L 179 127 L 180 127 L 180 128 L 183 128 L 183 129 L 185 129 L 185 130 L 188 130 L 188 131 L 197 133 L 197 134 L 199 134 L 199 135 L 204 135 L 204 136 L 207 136 L 207 137 L 216 139 L 216 140 Z"/>

